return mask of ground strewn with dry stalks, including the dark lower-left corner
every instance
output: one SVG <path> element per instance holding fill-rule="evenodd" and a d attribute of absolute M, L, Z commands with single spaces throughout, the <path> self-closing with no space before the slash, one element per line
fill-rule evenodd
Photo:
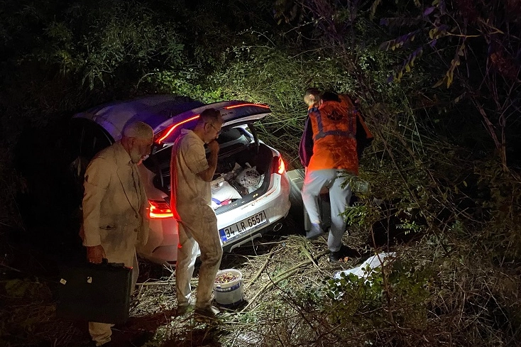
<path fill-rule="evenodd" d="M 126 324 L 114 326 L 115 346 L 258 345 L 262 336 L 256 336 L 256 324 L 269 324 L 278 319 L 275 309 L 281 306 L 278 302 L 290 300 L 295 288 L 306 290 L 320 286 L 322 280 L 356 266 L 368 256 L 366 235 L 346 234 L 344 244 L 353 248 L 353 255 L 358 253 L 358 256 L 341 263 L 327 260 L 326 238 L 307 241 L 302 235 L 303 231 L 289 218 L 280 231 L 225 253 L 220 268 L 242 272 L 244 301 L 234 309 L 223 309 L 219 322 L 212 325 L 197 323 L 191 312 L 178 316 L 172 268 L 140 260 L 138 286 L 131 299 L 131 317 Z M 10 268 L 3 269 L 8 285 L 0 292 L 4 306 L 0 310 L 0 345 L 87 346 L 87 322 L 67 321 L 55 314 L 57 274 L 53 261 L 45 253 L 33 250 L 18 256 L 24 260 L 11 262 Z M 31 275 L 24 272 L 28 268 Z M 42 274 L 41 277 L 38 274 Z M 197 277 L 197 265 L 194 276 Z M 197 288 L 197 279 L 193 284 Z"/>

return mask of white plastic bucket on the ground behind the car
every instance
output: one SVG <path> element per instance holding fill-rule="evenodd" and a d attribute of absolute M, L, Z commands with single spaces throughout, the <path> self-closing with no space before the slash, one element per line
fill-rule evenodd
<path fill-rule="evenodd" d="M 225 277 L 232 277 L 233 280 L 221 283 Z M 215 301 L 223 307 L 234 307 L 244 299 L 243 274 L 239 270 L 226 269 L 217 272 L 214 281 Z"/>

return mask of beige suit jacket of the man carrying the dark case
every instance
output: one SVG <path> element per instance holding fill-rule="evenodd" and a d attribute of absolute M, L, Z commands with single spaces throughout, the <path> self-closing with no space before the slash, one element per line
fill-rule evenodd
<path fill-rule="evenodd" d="M 134 178 L 135 177 L 135 178 Z M 134 254 L 148 240 L 147 199 L 138 174 L 120 142 L 91 160 L 84 180 L 84 246 L 102 245 L 109 261 Z"/>

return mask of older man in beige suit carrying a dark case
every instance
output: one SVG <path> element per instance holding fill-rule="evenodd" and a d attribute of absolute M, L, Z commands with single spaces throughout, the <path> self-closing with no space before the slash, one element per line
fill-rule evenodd
<path fill-rule="evenodd" d="M 130 123 L 121 141 L 97 153 L 85 172 L 81 236 L 87 260 L 102 263 L 106 258 L 132 267 L 133 285 L 139 272 L 136 245 L 148 239 L 147 199 L 137 165 L 150 154 L 152 142 L 150 126 Z M 89 322 L 96 346 L 109 346 L 111 326 Z"/>

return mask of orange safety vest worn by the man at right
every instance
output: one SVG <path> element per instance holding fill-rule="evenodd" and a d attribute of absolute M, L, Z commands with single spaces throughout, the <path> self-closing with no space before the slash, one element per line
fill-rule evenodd
<path fill-rule="evenodd" d="M 356 154 L 356 113 L 351 100 L 324 101 L 309 110 L 313 129 L 313 155 L 309 170 L 345 169 L 358 175 Z"/>

